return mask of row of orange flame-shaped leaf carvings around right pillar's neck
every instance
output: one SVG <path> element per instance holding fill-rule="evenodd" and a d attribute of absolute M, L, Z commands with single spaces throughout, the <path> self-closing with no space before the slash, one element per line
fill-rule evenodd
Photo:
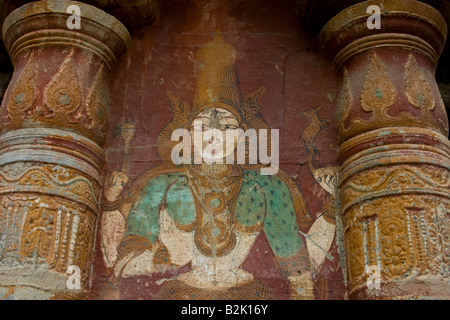
<path fill-rule="evenodd" d="M 440 112 L 445 111 L 441 98 L 435 95 L 427 77 L 419 67 L 413 54 L 408 56 L 404 67 L 404 87 L 396 88 L 391 81 L 388 69 L 374 53 L 362 84 L 359 105 L 361 111 L 369 117 L 352 115 L 350 112 L 358 106 L 355 101 L 354 87 L 347 69 L 343 68 L 343 83 L 337 102 L 337 117 L 340 141 L 361 134 L 363 132 L 392 126 L 402 127 L 436 127 L 439 132 L 448 132 L 448 124 L 432 112 L 436 108 L 438 99 Z M 397 115 L 389 114 L 399 101 L 399 92 L 404 94 L 411 105 L 410 110 L 403 110 Z M 356 110 L 355 110 L 356 111 Z M 361 113 L 361 112 L 359 112 Z M 348 119 L 351 118 L 351 119 Z M 446 134 L 445 134 L 446 135 Z"/>

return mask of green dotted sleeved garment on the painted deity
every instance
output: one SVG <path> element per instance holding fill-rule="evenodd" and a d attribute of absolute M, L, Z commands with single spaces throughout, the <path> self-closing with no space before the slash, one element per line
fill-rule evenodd
<path fill-rule="evenodd" d="M 181 225 L 194 222 L 194 198 L 185 174 L 161 174 L 142 189 L 128 216 L 125 236 L 139 235 L 155 243 L 160 233 L 159 212 L 164 197 L 167 212 L 174 221 Z M 280 258 L 298 253 L 303 245 L 291 192 L 276 175 L 244 171 L 234 214 L 240 224 L 248 227 L 263 223 L 270 246 Z"/>

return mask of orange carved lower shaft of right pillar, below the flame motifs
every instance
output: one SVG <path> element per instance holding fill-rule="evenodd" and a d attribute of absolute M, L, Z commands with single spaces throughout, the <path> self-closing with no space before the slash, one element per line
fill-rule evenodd
<path fill-rule="evenodd" d="M 373 267 L 385 288 L 448 278 L 448 150 L 446 137 L 417 128 L 384 128 L 341 146 L 350 295 L 380 293 L 367 285 Z"/>

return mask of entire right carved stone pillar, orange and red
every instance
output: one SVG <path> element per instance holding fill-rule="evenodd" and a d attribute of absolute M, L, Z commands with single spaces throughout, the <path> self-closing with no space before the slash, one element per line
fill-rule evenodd
<path fill-rule="evenodd" d="M 370 5 L 381 29 L 367 26 Z M 339 188 L 352 299 L 450 296 L 450 142 L 434 78 L 446 34 L 431 6 L 379 0 L 348 7 L 319 35 L 343 79 Z"/>

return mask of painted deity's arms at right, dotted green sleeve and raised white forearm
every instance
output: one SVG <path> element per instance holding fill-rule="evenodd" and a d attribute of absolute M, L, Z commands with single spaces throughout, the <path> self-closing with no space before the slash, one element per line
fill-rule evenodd
<path fill-rule="evenodd" d="M 330 175 L 328 171 L 326 173 Z M 289 279 L 291 298 L 314 299 L 312 272 L 324 262 L 334 239 L 334 198 L 331 194 L 326 195 L 319 218 L 306 234 L 297 225 L 298 208 L 293 204 L 299 199 L 293 198 L 294 190 L 290 189 L 295 186 L 285 183 L 284 176 L 266 180 L 267 215 L 264 229 L 280 268 Z M 324 179 L 323 183 L 330 181 Z M 302 196 L 299 192 L 295 194 Z M 299 203 L 304 204 L 304 199 Z"/>

